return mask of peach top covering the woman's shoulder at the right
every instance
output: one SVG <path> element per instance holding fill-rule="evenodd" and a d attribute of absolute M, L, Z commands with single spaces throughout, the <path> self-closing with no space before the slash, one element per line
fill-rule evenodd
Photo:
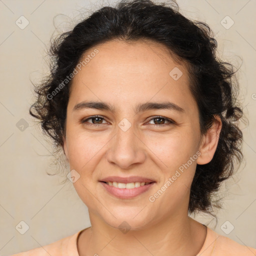
<path fill-rule="evenodd" d="M 209 227 L 207 227 L 207 236 L 208 243 L 211 244 L 211 246 L 209 246 L 210 251 L 208 250 L 208 252 L 211 252 L 211 254 L 209 254 L 211 256 L 256 256 L 256 249 L 220 235 Z"/>

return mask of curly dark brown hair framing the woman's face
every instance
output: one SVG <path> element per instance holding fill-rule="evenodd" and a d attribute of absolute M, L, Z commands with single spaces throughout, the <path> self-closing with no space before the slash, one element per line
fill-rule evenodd
<path fill-rule="evenodd" d="M 221 208 L 213 201 L 213 195 L 222 181 L 233 174 L 235 160 L 240 163 L 243 157 L 242 132 L 237 122 L 242 117 L 237 103 L 238 81 L 233 65 L 216 56 L 217 41 L 211 34 L 204 22 L 184 17 L 175 1 L 167 4 L 122 0 L 115 7 L 104 6 L 52 40 L 48 53 L 50 75 L 35 85 L 37 100 L 29 113 L 39 119 L 43 132 L 53 139 L 55 146 L 63 149 L 72 79 L 66 84 L 63 81 L 87 49 L 111 39 L 151 39 L 167 46 L 177 61 L 187 65 L 189 88 L 199 109 L 201 134 L 211 127 L 216 115 L 222 121 L 214 156 L 207 164 L 197 164 L 190 188 L 188 212 L 210 213 L 212 206 Z"/>

